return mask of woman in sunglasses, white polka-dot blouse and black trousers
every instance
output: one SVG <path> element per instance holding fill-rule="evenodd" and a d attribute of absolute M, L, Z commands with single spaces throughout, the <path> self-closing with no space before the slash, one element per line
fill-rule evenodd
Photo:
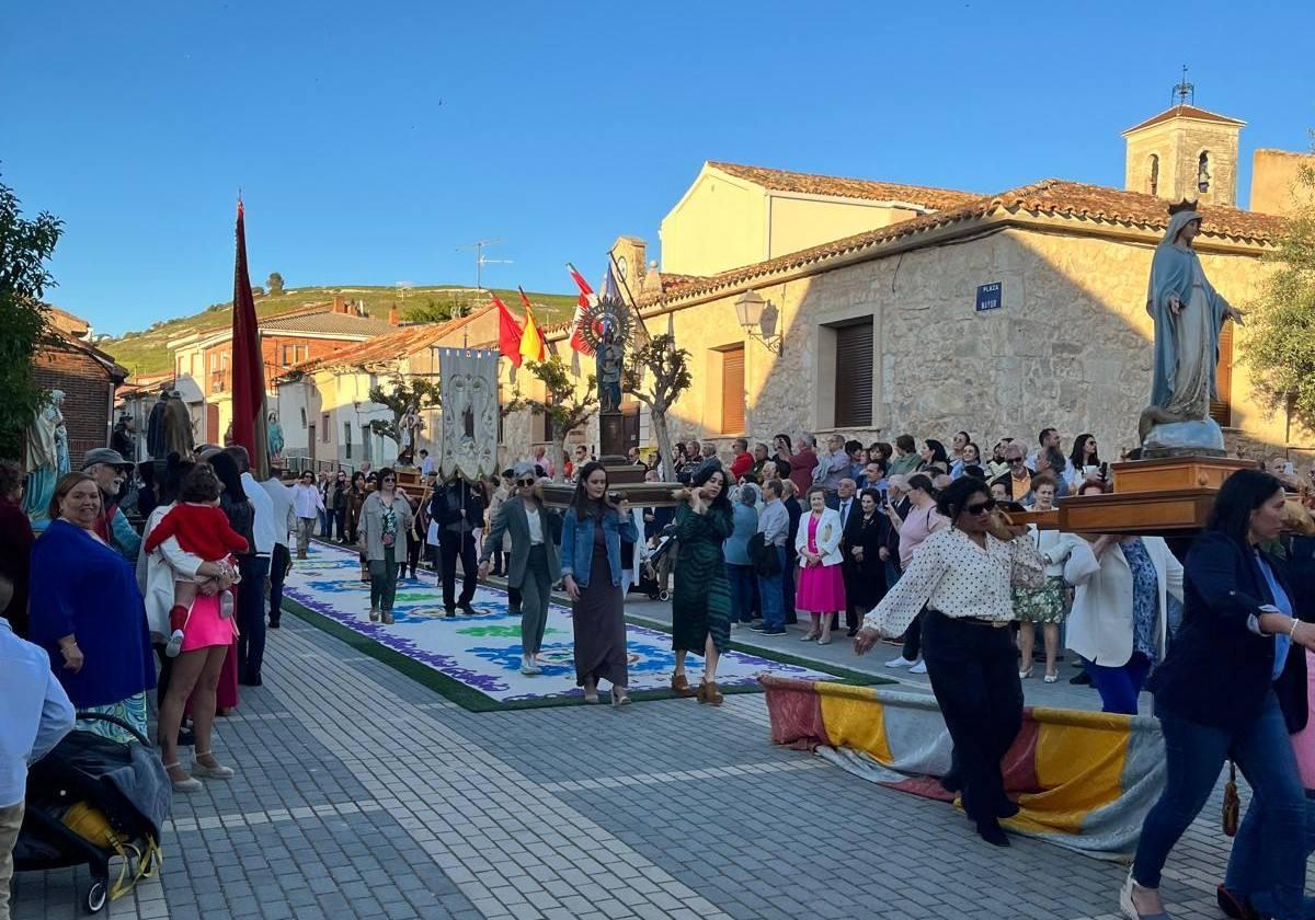
<path fill-rule="evenodd" d="M 922 655 L 931 690 L 955 743 L 964 811 L 982 840 L 1009 846 L 1001 817 L 1018 814 L 1005 796 L 999 761 L 1023 724 L 1010 589 L 1040 587 L 1045 559 L 997 517 L 981 480 L 955 481 L 940 493 L 951 526 L 928 536 L 899 581 L 864 620 L 859 655 L 882 633 L 898 636 L 926 606 Z"/>

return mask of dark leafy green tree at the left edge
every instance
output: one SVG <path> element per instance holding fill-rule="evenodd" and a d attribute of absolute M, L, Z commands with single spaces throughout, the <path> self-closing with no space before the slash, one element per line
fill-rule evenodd
<path fill-rule="evenodd" d="M 45 212 L 24 219 L 17 196 L 0 183 L 0 457 L 22 460 L 24 432 L 43 400 L 32 357 L 50 334 L 41 298 L 55 284 L 46 263 L 63 226 Z"/>

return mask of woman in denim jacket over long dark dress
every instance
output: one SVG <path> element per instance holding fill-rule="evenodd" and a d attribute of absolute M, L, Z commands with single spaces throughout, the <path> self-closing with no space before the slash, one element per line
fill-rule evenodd
<path fill-rule="evenodd" d="M 562 523 L 562 584 L 573 602 L 576 683 L 598 702 L 598 681 L 611 683 L 611 704 L 630 702 L 621 541 L 638 539 L 623 497 L 608 494 L 608 471 L 592 461 L 580 471 Z"/>

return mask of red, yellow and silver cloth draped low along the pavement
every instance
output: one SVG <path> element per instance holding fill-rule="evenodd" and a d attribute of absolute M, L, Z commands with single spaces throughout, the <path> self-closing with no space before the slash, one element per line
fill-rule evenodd
<path fill-rule="evenodd" d="M 952 744 L 936 701 L 885 687 L 764 676 L 772 740 L 871 782 L 953 800 L 939 777 Z M 1160 723 L 1147 716 L 1028 707 L 1002 762 L 1022 811 L 1002 824 L 1103 860 L 1132 854 L 1164 789 Z"/>

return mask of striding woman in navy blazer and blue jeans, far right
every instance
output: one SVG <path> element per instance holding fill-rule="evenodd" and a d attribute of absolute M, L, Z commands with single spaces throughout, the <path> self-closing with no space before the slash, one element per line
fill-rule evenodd
<path fill-rule="evenodd" d="M 1166 917 L 1160 873 L 1232 758 L 1255 793 L 1235 845 L 1261 839 L 1274 885 L 1273 917 L 1298 920 L 1306 881 L 1306 803 L 1279 694 L 1289 653 L 1315 649 L 1315 624 L 1294 618 L 1294 594 L 1260 547 L 1283 527 L 1283 489 L 1255 469 L 1233 473 L 1207 530 L 1187 553 L 1182 627 L 1151 677 L 1165 743 L 1165 790 L 1141 827 L 1119 907 L 1128 920 Z M 1302 682 L 1304 683 L 1304 682 Z M 1262 803 L 1262 808 L 1260 807 Z"/>

